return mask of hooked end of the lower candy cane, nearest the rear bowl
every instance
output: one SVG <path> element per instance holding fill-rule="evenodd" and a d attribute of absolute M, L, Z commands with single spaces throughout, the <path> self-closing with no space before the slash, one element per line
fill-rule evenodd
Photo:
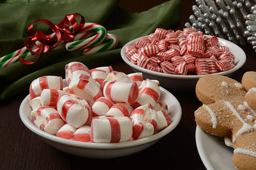
<path fill-rule="evenodd" d="M 113 34 L 108 33 L 105 41 L 93 47 L 86 48 L 83 54 L 89 55 L 97 52 L 113 50 L 117 44 L 118 44 L 117 37 Z"/>

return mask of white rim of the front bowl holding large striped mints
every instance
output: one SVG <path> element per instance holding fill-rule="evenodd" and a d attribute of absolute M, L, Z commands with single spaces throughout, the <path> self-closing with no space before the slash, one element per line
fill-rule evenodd
<path fill-rule="evenodd" d="M 23 107 L 25 107 L 26 105 L 26 100 L 29 99 L 29 95 L 27 95 L 24 100 L 21 102 L 20 104 L 20 119 L 22 120 L 23 124 L 26 125 L 26 127 L 31 130 L 33 133 L 36 133 L 37 135 L 46 138 L 48 140 L 57 142 L 57 143 L 61 143 L 63 145 L 69 145 L 72 147 L 76 147 L 76 148 L 89 148 L 89 149 L 105 149 L 105 150 L 109 150 L 109 149 L 119 149 L 119 148 L 129 148 L 129 147 L 134 147 L 134 146 L 138 146 L 138 145 L 144 145 L 146 143 L 150 143 L 153 142 L 155 140 L 159 140 L 162 137 L 164 137 L 165 135 L 167 135 L 168 133 L 170 133 L 174 128 L 176 128 L 176 126 L 179 124 L 179 121 L 181 120 L 182 117 L 182 108 L 180 106 L 179 101 L 177 100 L 176 97 L 174 97 L 174 95 L 172 95 L 172 93 L 170 93 L 168 90 L 165 90 L 163 87 L 160 87 L 160 89 L 162 91 L 164 91 L 165 93 L 167 93 L 167 95 L 171 95 L 171 97 L 173 97 L 174 100 L 176 100 L 177 102 L 177 112 L 176 112 L 176 119 L 164 130 L 161 130 L 159 133 L 156 133 L 154 135 L 151 135 L 147 138 L 142 138 L 142 139 L 138 139 L 138 140 L 133 140 L 133 141 L 128 141 L 128 142 L 122 142 L 122 143 L 86 143 L 86 142 L 79 142 L 79 141 L 74 141 L 74 140 L 67 140 L 64 138 L 59 138 L 57 136 L 48 134 L 42 130 L 39 130 L 38 128 L 36 128 L 36 126 L 30 126 L 31 122 L 29 122 L 26 119 L 26 115 L 23 114 Z"/>

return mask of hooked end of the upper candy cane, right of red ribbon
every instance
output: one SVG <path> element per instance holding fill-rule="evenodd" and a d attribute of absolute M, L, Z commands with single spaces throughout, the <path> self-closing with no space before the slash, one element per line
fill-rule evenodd
<path fill-rule="evenodd" d="M 67 51 L 81 50 L 84 48 L 93 47 L 105 41 L 107 36 L 107 30 L 102 25 L 95 23 L 85 23 L 81 32 L 95 32 L 96 35 L 85 38 L 83 40 L 68 42 L 66 44 Z"/>

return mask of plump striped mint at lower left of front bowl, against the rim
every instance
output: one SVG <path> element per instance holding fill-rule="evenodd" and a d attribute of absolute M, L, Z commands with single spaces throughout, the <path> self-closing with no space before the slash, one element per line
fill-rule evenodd
<path fill-rule="evenodd" d="M 57 110 L 50 106 L 41 106 L 33 110 L 31 119 L 37 128 L 52 135 L 65 124 Z"/>

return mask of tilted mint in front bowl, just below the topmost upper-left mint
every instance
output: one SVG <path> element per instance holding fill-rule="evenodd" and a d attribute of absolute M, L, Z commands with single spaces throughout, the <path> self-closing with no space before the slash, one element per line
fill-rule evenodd
<path fill-rule="evenodd" d="M 74 95 L 78 95 L 89 102 L 90 105 L 93 105 L 98 98 L 102 97 L 100 88 L 95 81 L 90 79 L 73 78 L 69 84 L 69 89 L 74 92 Z"/>

